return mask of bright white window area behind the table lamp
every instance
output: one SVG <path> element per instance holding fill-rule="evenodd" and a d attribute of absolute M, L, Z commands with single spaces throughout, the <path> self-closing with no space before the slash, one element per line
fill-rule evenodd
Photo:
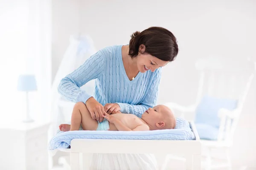
<path fill-rule="evenodd" d="M 47 116 L 51 79 L 50 0 L 8 0 L 0 10 L 0 120 L 22 120 L 26 98 L 17 91 L 20 74 L 35 74 L 29 94 L 34 119 Z M 46 104 L 47 103 L 47 104 Z M 49 115 L 48 115 L 49 117 Z"/>

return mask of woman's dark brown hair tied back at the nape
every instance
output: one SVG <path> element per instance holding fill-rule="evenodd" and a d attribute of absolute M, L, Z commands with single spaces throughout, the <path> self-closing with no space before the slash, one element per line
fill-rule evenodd
<path fill-rule="evenodd" d="M 175 36 L 162 27 L 150 27 L 142 32 L 136 31 L 131 35 L 129 55 L 131 58 L 136 57 L 140 45 L 143 44 L 145 45 L 144 53 L 163 61 L 173 61 L 179 50 L 176 41 Z"/>

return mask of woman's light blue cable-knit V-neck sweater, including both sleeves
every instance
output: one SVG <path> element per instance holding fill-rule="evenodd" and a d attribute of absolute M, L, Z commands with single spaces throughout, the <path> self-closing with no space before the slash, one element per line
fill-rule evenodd
<path fill-rule="evenodd" d="M 95 79 L 93 97 L 99 103 L 117 103 L 122 113 L 141 117 L 156 105 L 160 77 L 158 68 L 154 72 L 139 72 L 134 80 L 129 80 L 122 61 L 122 45 L 113 45 L 99 50 L 61 79 L 58 92 L 70 101 L 85 103 L 92 96 L 80 87 Z"/>

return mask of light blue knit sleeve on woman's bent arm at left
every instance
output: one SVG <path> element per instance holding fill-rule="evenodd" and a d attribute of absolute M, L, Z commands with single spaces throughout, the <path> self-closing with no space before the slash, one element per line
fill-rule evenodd
<path fill-rule="evenodd" d="M 58 93 L 72 102 L 86 102 L 92 97 L 80 89 L 82 85 L 98 78 L 104 70 L 105 57 L 100 51 L 93 54 L 83 65 L 61 79 Z"/>

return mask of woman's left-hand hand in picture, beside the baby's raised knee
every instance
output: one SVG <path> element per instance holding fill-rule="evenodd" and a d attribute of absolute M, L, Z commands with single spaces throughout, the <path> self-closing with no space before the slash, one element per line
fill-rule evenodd
<path fill-rule="evenodd" d="M 90 112 L 92 119 L 96 119 L 99 122 L 103 121 L 103 115 L 105 115 L 105 111 L 102 104 L 91 97 L 85 102 L 85 105 Z"/>

